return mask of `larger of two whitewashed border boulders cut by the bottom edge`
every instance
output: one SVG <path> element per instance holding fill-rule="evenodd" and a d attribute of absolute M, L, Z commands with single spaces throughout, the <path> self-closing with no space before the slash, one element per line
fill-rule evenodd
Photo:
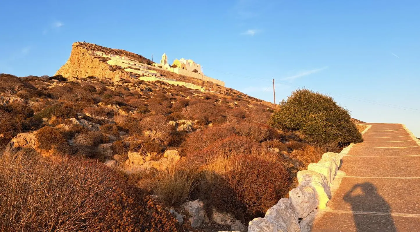
<path fill-rule="evenodd" d="M 299 214 L 289 198 L 281 198 L 264 218 L 276 225 L 276 232 L 300 232 Z"/>

